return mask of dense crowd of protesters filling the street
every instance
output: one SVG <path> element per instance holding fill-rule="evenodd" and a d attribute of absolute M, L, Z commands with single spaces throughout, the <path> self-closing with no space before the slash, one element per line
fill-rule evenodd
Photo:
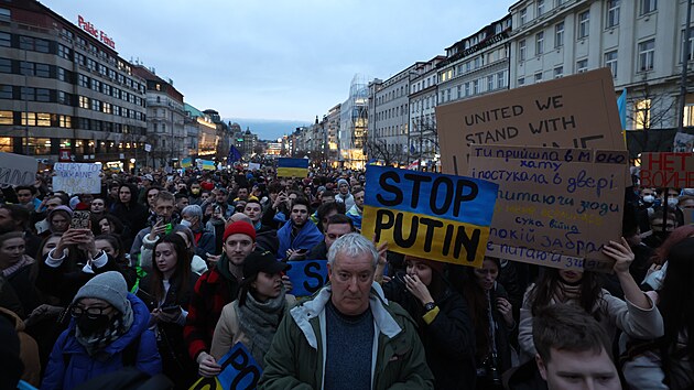
<path fill-rule="evenodd" d="M 694 388 L 694 189 L 627 188 L 608 274 L 388 251 L 358 235 L 365 184 L 239 166 L 4 186 L 0 387 L 187 389 L 241 342 L 265 389 Z M 292 295 L 297 260 L 328 260 L 313 296 Z"/>

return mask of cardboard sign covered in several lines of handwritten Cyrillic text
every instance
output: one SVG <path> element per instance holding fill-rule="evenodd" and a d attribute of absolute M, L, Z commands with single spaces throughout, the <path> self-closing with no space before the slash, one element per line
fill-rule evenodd
<path fill-rule="evenodd" d="M 499 184 L 487 254 L 611 270 L 601 247 L 621 237 L 627 161 L 625 151 L 474 145 L 469 175 Z"/>

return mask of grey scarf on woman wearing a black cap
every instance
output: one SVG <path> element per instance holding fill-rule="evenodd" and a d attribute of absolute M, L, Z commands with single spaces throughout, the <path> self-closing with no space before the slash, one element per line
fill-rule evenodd
<path fill-rule="evenodd" d="M 238 305 L 235 302 L 236 315 L 239 318 L 239 328 L 251 340 L 247 346 L 259 365 L 263 365 L 265 353 L 270 349 L 272 337 L 280 326 L 284 316 L 286 301 L 284 299 L 284 286 L 280 295 L 269 299 L 267 302 L 258 302 L 250 292 L 246 295 L 246 304 Z"/>

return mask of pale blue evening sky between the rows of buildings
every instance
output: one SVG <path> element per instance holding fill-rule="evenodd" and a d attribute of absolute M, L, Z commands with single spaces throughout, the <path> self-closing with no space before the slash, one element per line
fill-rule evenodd
<path fill-rule="evenodd" d="M 513 0 L 42 0 L 223 118 L 311 123 L 356 74 L 388 79 L 507 14 Z M 240 122 L 243 126 L 242 122 Z M 273 138 L 276 134 L 260 134 Z"/>

